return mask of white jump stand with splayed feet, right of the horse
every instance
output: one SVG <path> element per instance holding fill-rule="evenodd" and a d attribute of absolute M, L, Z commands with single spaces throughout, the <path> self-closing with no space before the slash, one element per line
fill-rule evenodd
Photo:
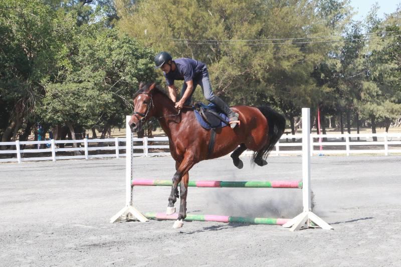
<path fill-rule="evenodd" d="M 310 186 L 310 109 L 302 108 L 302 203 L 303 212 L 287 223 L 283 227 L 291 227 L 291 231 L 302 227 L 315 225 L 323 229 L 332 229 L 324 220 L 318 217 L 311 210 L 311 186 Z"/>

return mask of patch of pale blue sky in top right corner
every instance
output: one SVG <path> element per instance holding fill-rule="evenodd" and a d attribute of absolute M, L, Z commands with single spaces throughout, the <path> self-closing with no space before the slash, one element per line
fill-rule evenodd
<path fill-rule="evenodd" d="M 377 12 L 378 17 L 384 18 L 384 13 L 394 12 L 397 9 L 397 5 L 401 3 L 401 0 L 351 0 L 350 3 L 354 8 L 354 12 L 358 12 L 354 15 L 354 19 L 362 20 L 375 2 L 378 2 L 380 6 Z"/>

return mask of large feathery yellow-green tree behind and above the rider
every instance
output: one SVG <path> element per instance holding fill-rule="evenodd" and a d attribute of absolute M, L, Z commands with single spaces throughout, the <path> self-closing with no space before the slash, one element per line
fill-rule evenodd
<path fill-rule="evenodd" d="M 296 42 L 330 31 L 322 2 L 118 0 L 117 25 L 155 50 L 206 62 L 215 93 L 231 104 L 266 104 L 270 97 L 276 99 L 270 103 L 294 116 L 294 110 L 299 114 L 301 106 L 314 105 L 320 95 L 311 72 L 331 46 Z M 342 22 L 342 9 L 337 9 L 330 25 Z M 283 40 L 293 36 L 305 39 Z M 199 90 L 195 97 L 203 98 Z"/>

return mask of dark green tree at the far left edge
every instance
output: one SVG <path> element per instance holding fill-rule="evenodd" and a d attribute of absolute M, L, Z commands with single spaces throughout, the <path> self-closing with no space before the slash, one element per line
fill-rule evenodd
<path fill-rule="evenodd" d="M 54 75 L 55 14 L 40 0 L 0 2 L 2 141 L 15 139 L 23 123 L 30 131 L 32 111 L 43 83 Z"/>

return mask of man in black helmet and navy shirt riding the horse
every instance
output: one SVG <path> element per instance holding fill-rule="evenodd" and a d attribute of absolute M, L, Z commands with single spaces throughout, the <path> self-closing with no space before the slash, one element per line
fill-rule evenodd
<path fill-rule="evenodd" d="M 181 109 L 184 105 L 189 105 L 193 91 L 196 85 L 199 84 L 206 100 L 217 105 L 229 117 L 230 121 L 238 120 L 239 114 L 234 112 L 219 96 L 213 93 L 208 67 L 205 63 L 186 57 L 172 60 L 171 55 L 164 51 L 154 57 L 154 63 L 156 68 L 160 68 L 163 71 L 171 100 L 175 102 L 175 108 Z M 178 102 L 176 102 L 177 88 L 174 85 L 174 80 L 185 81 L 181 89 L 181 99 Z M 236 122 L 230 124 L 232 128 L 237 125 Z"/>

